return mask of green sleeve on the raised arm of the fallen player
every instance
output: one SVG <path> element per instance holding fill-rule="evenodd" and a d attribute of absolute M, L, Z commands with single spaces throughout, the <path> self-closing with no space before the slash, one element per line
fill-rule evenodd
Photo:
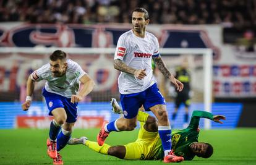
<path fill-rule="evenodd" d="M 207 118 L 213 120 L 213 114 L 206 111 L 193 111 L 192 117 L 189 122 L 189 129 L 198 129 L 200 118 Z"/>

